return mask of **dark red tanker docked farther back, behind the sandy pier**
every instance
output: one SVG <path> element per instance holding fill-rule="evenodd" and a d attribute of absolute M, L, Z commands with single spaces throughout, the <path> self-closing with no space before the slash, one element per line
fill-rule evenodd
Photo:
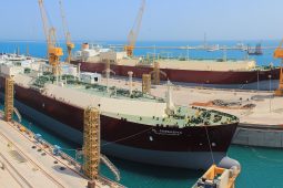
<path fill-rule="evenodd" d="M 75 52 L 71 63 L 80 64 L 82 71 L 102 73 L 107 61 L 110 61 L 115 75 L 128 76 L 128 72 L 132 71 L 134 77 L 141 79 L 142 74 L 151 73 L 158 66 L 163 73 L 160 76 L 163 81 L 203 85 L 250 84 L 279 80 L 280 75 L 279 67 L 257 66 L 253 60 L 168 59 L 158 54 L 134 58 L 129 56 L 127 51 L 118 52 L 88 43 L 83 43 L 81 50 Z"/>

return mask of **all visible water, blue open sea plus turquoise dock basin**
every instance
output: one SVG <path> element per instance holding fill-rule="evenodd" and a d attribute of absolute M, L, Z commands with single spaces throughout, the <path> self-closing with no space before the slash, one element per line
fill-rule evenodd
<path fill-rule="evenodd" d="M 237 41 L 214 41 L 211 44 L 220 44 L 232 46 Z M 259 41 L 244 41 L 245 44 L 255 45 Z M 98 42 L 100 44 L 123 44 L 119 41 Z M 140 42 L 138 45 L 160 46 L 160 45 L 200 45 L 201 41 L 188 42 Z M 277 41 L 262 41 L 262 45 L 275 46 Z M 20 48 L 21 53 L 26 53 L 26 48 L 29 45 L 29 53 L 33 56 L 46 56 L 46 43 L 32 41 L 0 41 L 0 52 L 13 53 L 17 48 Z M 80 46 L 80 41 L 77 43 L 77 50 Z M 161 53 L 161 50 L 156 50 Z M 154 53 L 151 50 L 137 50 L 137 55 L 144 55 L 146 53 Z M 163 53 L 163 52 L 162 52 Z M 186 51 L 171 50 L 173 56 L 185 56 Z M 253 56 L 257 64 L 269 65 L 273 62 L 279 65 L 279 61 L 272 58 L 273 50 L 265 50 L 261 56 Z M 223 52 L 205 52 L 205 51 L 190 51 L 190 58 L 205 58 L 205 59 L 221 59 Z M 244 59 L 244 52 L 228 51 L 229 59 Z M 81 146 L 64 140 L 53 133 L 42 128 L 34 122 L 23 118 L 22 122 L 27 127 L 31 128 L 34 133 L 40 133 L 44 139 L 51 144 L 60 145 L 63 150 L 74 157 L 74 149 Z M 257 147 L 244 147 L 232 145 L 229 149 L 229 156 L 237 159 L 242 165 L 242 173 L 236 181 L 236 187 L 240 188 L 281 188 L 283 187 L 283 150 L 269 149 Z M 127 161 L 118 158 L 110 159 L 115 164 L 121 173 L 121 184 L 127 187 L 138 188 L 182 188 L 191 187 L 204 171 L 186 170 L 176 168 L 158 167 L 152 165 L 138 164 Z M 188 158 L 189 160 L 189 158 Z M 105 166 L 101 166 L 101 174 L 109 178 L 114 178 L 113 175 Z"/>

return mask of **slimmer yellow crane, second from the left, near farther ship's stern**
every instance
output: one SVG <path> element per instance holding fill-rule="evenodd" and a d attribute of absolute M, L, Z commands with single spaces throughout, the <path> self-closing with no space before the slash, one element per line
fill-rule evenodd
<path fill-rule="evenodd" d="M 61 0 L 59 0 L 59 4 L 60 4 L 60 12 L 61 12 L 63 31 L 64 31 L 67 52 L 68 52 L 67 63 L 70 63 L 71 58 L 72 58 L 72 50 L 74 48 L 74 43 L 72 43 L 72 41 L 71 41 L 71 33 L 70 33 L 68 24 L 67 24 L 65 14 L 64 14 L 64 11 L 63 11 L 63 6 L 62 6 Z"/>

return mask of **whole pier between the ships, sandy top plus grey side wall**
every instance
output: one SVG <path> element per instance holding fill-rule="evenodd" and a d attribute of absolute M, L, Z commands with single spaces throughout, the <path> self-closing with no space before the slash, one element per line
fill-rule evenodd
<path fill-rule="evenodd" d="M 105 80 L 102 80 L 105 82 Z M 111 79 L 110 85 L 129 88 L 128 79 Z M 141 90 L 141 82 L 133 83 Z M 151 94 L 165 97 L 166 85 L 151 88 Z M 203 106 L 223 111 L 240 118 L 233 144 L 283 148 L 283 97 L 272 92 L 189 87 L 175 85 L 173 101 L 179 105 Z"/>

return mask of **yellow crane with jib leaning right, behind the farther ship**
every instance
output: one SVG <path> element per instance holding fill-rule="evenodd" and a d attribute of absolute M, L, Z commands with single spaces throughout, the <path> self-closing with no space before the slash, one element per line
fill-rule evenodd
<path fill-rule="evenodd" d="M 133 28 L 131 29 L 131 31 L 128 35 L 128 44 L 124 46 L 124 50 L 127 51 L 128 56 L 133 55 L 133 50 L 135 46 L 137 38 L 138 38 L 140 29 L 141 29 L 141 21 L 142 21 L 144 8 L 145 8 L 145 0 L 142 0 L 138 17 L 135 18 L 135 21 L 133 24 Z"/>

